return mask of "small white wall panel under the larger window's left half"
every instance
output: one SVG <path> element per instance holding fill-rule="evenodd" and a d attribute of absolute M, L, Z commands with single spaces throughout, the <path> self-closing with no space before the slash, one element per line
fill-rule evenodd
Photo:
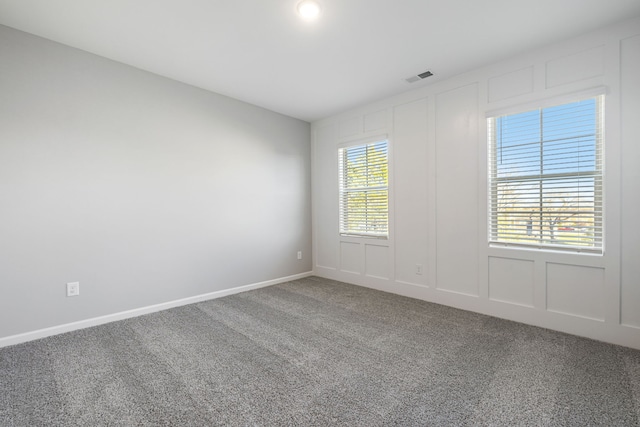
<path fill-rule="evenodd" d="M 534 262 L 489 257 L 489 298 L 533 307 Z"/>

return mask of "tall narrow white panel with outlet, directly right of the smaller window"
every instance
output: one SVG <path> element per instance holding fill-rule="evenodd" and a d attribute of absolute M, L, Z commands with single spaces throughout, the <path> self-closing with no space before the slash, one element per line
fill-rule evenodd
<path fill-rule="evenodd" d="M 395 277 L 422 286 L 427 284 L 427 108 L 421 99 L 397 106 L 393 114 Z"/>

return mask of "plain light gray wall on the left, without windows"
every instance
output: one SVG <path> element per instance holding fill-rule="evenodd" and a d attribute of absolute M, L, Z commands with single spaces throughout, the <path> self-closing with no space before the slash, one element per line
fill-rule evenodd
<path fill-rule="evenodd" d="M 308 123 L 2 26 L 0 94 L 0 338 L 311 270 Z"/>

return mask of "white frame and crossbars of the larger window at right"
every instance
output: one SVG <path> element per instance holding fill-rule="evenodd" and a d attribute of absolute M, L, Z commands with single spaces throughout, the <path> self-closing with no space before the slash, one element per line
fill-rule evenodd
<path fill-rule="evenodd" d="M 604 137 L 604 88 L 597 88 L 591 91 L 586 91 L 579 94 L 573 94 L 565 97 L 558 97 L 554 99 L 548 99 L 544 102 L 538 104 L 528 104 L 526 106 L 520 106 L 519 108 L 505 109 L 501 111 L 494 111 L 487 113 L 487 141 L 488 141 L 488 241 L 490 246 L 494 247 L 522 247 L 522 248 L 535 248 L 535 249 L 543 249 L 543 250 L 561 250 L 561 251 L 570 251 L 577 253 L 594 253 L 594 254 L 603 254 L 604 253 L 604 150 L 605 150 L 605 137 Z M 501 239 L 498 225 L 498 184 L 501 181 L 509 181 L 518 183 L 518 177 L 515 178 L 500 178 L 497 175 L 497 151 L 496 151 L 496 140 L 495 140 L 495 123 L 496 120 L 500 117 L 516 115 L 524 112 L 530 112 L 534 110 L 545 110 L 547 108 L 561 106 L 565 104 L 570 104 L 577 101 L 584 101 L 588 99 L 596 99 L 596 167 L 593 172 L 589 173 L 575 173 L 575 174 L 567 174 L 568 178 L 573 177 L 591 177 L 594 179 L 594 230 L 593 230 L 593 244 L 589 246 L 581 246 L 578 244 L 553 244 L 549 242 L 545 242 L 543 238 L 543 233 L 540 230 L 538 241 L 526 241 L 526 242 L 517 242 L 510 241 L 509 239 Z M 542 126 L 542 125 L 541 125 Z M 541 143 L 541 145 L 544 142 Z M 541 159 L 541 163 L 543 163 Z M 562 176 L 555 176 L 555 178 L 562 178 Z M 547 185 L 554 178 L 552 174 L 544 174 L 541 173 L 539 175 L 539 183 L 542 186 L 543 183 L 547 183 Z M 574 178 L 575 179 L 575 178 Z M 540 196 L 540 211 L 543 210 L 543 201 L 542 195 Z M 542 218 L 542 213 L 541 213 Z M 542 221 L 541 221 L 542 222 Z M 529 225 L 527 225 L 529 226 Z M 542 226 L 540 226 L 542 228 Z M 525 229 L 525 233 L 526 233 Z"/>

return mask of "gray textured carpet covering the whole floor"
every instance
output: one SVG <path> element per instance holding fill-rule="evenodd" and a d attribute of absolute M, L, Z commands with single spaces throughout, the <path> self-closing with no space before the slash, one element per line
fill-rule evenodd
<path fill-rule="evenodd" d="M 640 351 L 308 278 L 0 349 L 0 426 L 637 426 Z"/>

